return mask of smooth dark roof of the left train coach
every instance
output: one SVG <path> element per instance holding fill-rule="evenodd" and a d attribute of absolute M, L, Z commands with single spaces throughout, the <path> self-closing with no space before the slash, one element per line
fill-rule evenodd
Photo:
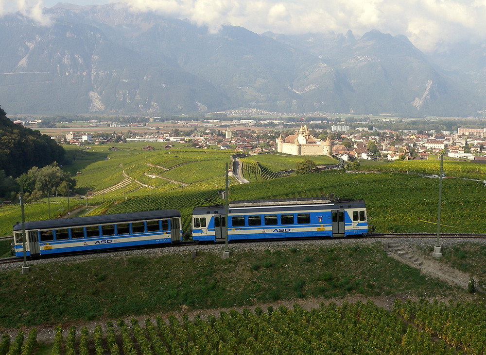
<path fill-rule="evenodd" d="M 45 221 L 30 221 L 25 222 L 25 229 L 46 229 L 46 228 L 67 228 L 74 226 L 88 226 L 102 223 L 118 223 L 118 222 L 132 222 L 141 220 L 151 220 L 160 218 L 175 218 L 180 217 L 179 210 L 156 210 L 156 211 L 142 211 L 129 212 L 117 214 L 105 214 L 100 216 L 86 216 L 74 218 L 60 218 Z M 14 225 L 15 230 L 22 230 L 22 224 Z"/>

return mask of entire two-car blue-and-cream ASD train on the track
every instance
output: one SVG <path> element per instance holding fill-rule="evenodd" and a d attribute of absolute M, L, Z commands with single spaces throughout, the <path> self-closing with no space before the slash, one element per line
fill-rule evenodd
<path fill-rule="evenodd" d="M 227 223 L 226 223 L 227 222 Z M 24 223 L 25 254 L 37 257 L 69 252 L 182 242 L 181 213 L 158 210 Z M 363 200 L 297 198 L 233 201 L 226 206 L 195 207 L 192 239 L 221 242 L 311 237 L 366 236 Z M 23 255 L 20 223 L 14 250 Z"/>

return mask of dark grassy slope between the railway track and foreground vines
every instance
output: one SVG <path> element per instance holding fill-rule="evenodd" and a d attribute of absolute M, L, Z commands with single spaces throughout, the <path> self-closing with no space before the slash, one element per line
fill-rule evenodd
<path fill-rule="evenodd" d="M 154 312 L 233 307 L 295 297 L 359 293 L 453 296 L 457 289 L 387 257 L 381 244 L 162 253 L 35 265 L 0 273 L 1 326 L 99 320 Z"/>

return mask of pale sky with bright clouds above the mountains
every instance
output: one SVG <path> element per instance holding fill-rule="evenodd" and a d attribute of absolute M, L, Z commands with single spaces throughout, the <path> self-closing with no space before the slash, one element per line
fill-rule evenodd
<path fill-rule="evenodd" d="M 56 0 L 0 0 L 0 16 L 20 11 L 41 25 L 51 21 L 43 8 Z M 77 5 L 110 0 L 65 0 Z M 307 32 L 362 35 L 379 30 L 403 34 L 431 52 L 463 40 L 486 39 L 486 0 L 117 0 L 133 11 L 189 19 L 218 31 L 221 25 L 243 26 L 263 33 Z"/>

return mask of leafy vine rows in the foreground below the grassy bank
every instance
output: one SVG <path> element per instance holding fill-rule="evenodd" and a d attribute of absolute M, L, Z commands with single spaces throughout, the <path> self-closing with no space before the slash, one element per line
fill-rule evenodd
<path fill-rule="evenodd" d="M 97 325 L 92 334 L 55 328 L 52 355 L 162 354 L 483 354 L 485 310 L 472 303 L 444 304 L 397 300 L 393 311 L 367 303 L 321 304 L 305 310 L 256 307 L 229 310 L 219 316 L 187 315 L 167 320 L 132 318 Z M 24 341 L 25 340 L 25 341 Z M 2 355 L 30 355 L 36 330 L 11 340 L 3 336 Z"/>

